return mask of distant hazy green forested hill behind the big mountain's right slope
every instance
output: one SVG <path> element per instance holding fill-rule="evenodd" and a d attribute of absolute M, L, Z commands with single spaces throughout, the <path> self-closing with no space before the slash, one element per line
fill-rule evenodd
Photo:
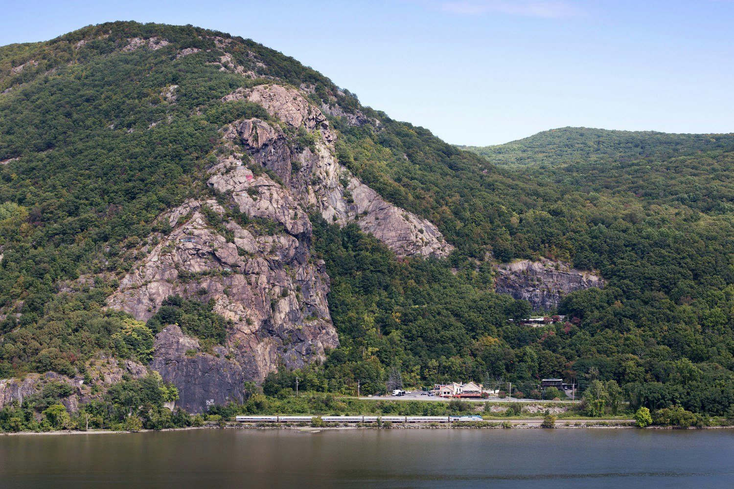
<path fill-rule="evenodd" d="M 734 134 L 560 128 L 465 149 L 587 193 L 609 191 L 706 213 L 734 210 Z"/>

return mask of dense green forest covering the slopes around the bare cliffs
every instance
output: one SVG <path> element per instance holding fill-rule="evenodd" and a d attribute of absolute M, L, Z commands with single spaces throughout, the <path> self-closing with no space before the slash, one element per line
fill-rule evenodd
<path fill-rule="evenodd" d="M 456 249 L 398 258 L 356 225 L 312 215 L 341 348 L 272 374 L 266 394 L 286 395 L 296 375 L 305 391 L 352 394 L 359 381 L 373 394 L 399 369 L 410 386 L 473 379 L 528 392 L 560 376 L 582 389 L 601 381 L 605 399 L 621 389 L 633 408 L 733 412 L 734 136 L 565 128 L 468 151 L 251 40 L 232 38 L 229 51 L 244 67 L 257 54 L 261 78 L 218 70 L 214 36 L 230 39 L 117 22 L 0 48 L 0 378 L 84 375 L 101 352 L 145 361 L 170 322 L 222 340 L 227 324 L 206 304 L 170 298 L 146 324 L 106 309 L 106 298 L 163 230 L 156 216 L 191 196 L 217 198 L 203 181 L 219 128 L 268 118 L 219 99 L 276 79 L 313 86 L 316 106 L 341 94 L 344 111 L 371 118 L 329 116 L 338 160 Z M 168 43 L 123 52 L 131 37 Z M 184 48 L 197 52 L 177 59 Z M 175 104 L 161 93 L 172 85 Z M 567 295 L 565 323 L 516 326 L 509 319 L 530 306 L 493 292 L 494 265 L 539 258 L 597 271 L 606 287 Z M 167 388 L 135 382 L 161 412 Z M 29 400 L 37 406 L 18 416 L 62 394 Z"/>

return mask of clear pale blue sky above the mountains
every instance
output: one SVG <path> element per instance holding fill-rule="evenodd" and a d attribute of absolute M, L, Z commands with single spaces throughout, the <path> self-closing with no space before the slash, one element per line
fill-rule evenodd
<path fill-rule="evenodd" d="M 0 45 L 116 20 L 250 37 L 456 144 L 734 131 L 734 0 L 2 0 Z"/>

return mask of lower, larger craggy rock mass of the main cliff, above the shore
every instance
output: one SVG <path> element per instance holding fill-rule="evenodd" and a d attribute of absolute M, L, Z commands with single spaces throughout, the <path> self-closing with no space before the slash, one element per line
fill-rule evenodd
<path fill-rule="evenodd" d="M 186 407 L 194 412 L 206 409 L 210 399 L 239 399 L 244 380 L 260 382 L 280 365 L 297 368 L 323 360 L 327 348 L 338 346 L 327 304 L 329 278 L 323 262 L 311 260 L 308 251 L 307 216 L 272 180 L 248 179 L 249 169 L 228 171 L 226 164 L 218 167 L 212 185 L 229 191 L 242 213 L 280 222 L 286 232 L 269 234 L 259 224 L 222 217 L 225 237 L 207 217 L 223 216 L 224 208 L 214 200 L 186 202 L 161 216 L 172 232 L 109 298 L 110 306 L 139 320 L 152 316 L 170 295 L 213 301 L 213 311 L 230 320 L 225 344 L 214 350 L 216 361 L 211 355 L 195 361 L 186 357 L 186 351 L 199 350 L 198 342 L 175 330 L 156 337 L 153 367 L 167 366 L 161 375 L 190 392 Z M 257 200 L 250 189 L 258 192 Z M 187 373 L 177 373 L 178 367 Z M 217 378 L 216 372 L 225 370 L 230 374 Z M 225 397 L 212 397 L 216 391 Z"/>

